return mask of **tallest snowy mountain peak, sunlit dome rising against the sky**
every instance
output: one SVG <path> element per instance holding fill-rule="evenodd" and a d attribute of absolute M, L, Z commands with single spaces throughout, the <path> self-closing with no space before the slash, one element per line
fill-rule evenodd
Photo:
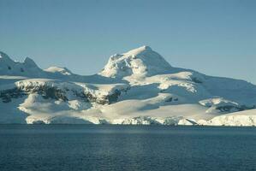
<path fill-rule="evenodd" d="M 110 56 L 109 62 L 99 73 L 105 77 L 151 76 L 170 72 L 171 66 L 149 46 L 129 50 L 122 55 Z"/>

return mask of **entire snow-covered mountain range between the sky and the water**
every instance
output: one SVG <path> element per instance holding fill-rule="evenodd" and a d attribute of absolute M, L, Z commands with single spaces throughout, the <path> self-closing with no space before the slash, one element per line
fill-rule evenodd
<path fill-rule="evenodd" d="M 256 126 L 255 106 L 256 85 L 175 68 L 148 46 L 90 76 L 0 52 L 0 123 Z"/>

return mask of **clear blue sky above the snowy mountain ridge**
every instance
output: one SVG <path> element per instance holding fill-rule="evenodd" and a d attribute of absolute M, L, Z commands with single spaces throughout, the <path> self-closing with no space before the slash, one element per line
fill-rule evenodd
<path fill-rule="evenodd" d="M 95 74 L 149 45 L 174 67 L 256 84 L 254 0 L 0 0 L 0 50 Z"/>

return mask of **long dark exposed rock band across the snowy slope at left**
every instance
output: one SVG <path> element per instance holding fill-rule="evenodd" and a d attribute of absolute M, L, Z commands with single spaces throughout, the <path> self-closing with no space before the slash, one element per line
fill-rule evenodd
<path fill-rule="evenodd" d="M 3 103 L 10 103 L 12 98 L 23 97 L 36 93 L 45 99 L 51 98 L 55 100 L 62 100 L 64 102 L 77 97 L 88 103 L 110 104 L 117 102 L 122 91 L 125 92 L 127 90 L 128 87 L 121 90 L 114 89 L 110 93 L 98 97 L 96 93 L 92 93 L 93 91 L 84 90 L 81 87 L 78 88 L 74 85 L 58 85 L 51 83 L 51 81 L 27 81 L 26 83 L 20 81 L 14 88 L 0 91 L 0 98 L 2 98 Z M 74 97 L 70 96 L 70 93 Z"/>

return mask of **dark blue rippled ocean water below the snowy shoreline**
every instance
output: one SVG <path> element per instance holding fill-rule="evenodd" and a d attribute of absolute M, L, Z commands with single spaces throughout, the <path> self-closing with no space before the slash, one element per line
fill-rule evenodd
<path fill-rule="evenodd" d="M 256 128 L 0 125 L 13 170 L 256 170 Z"/>

